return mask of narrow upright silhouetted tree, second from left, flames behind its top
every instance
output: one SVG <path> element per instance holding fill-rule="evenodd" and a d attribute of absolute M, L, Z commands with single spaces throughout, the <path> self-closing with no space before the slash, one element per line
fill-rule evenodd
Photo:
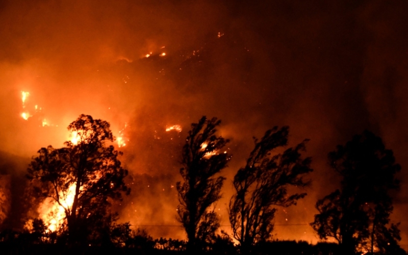
<path fill-rule="evenodd" d="M 180 201 L 177 213 L 186 230 L 190 250 L 202 245 L 219 227 L 210 206 L 221 197 L 225 178 L 215 175 L 230 159 L 226 151 L 221 151 L 228 140 L 215 135 L 220 122 L 203 116 L 198 123 L 192 123 L 183 147 L 180 174 L 184 181 L 177 182 L 176 186 Z"/>

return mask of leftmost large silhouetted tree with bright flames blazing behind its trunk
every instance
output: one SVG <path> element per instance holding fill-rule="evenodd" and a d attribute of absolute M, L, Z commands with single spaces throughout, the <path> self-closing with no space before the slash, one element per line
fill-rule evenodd
<path fill-rule="evenodd" d="M 118 159 L 122 152 L 106 144 L 114 141 L 107 121 L 82 114 L 68 131 L 74 142 L 41 148 L 27 177 L 36 197 L 52 199 L 63 208 L 68 240 L 77 243 L 107 233 L 115 220 L 111 201 L 130 189 L 123 180 L 127 170 Z"/>

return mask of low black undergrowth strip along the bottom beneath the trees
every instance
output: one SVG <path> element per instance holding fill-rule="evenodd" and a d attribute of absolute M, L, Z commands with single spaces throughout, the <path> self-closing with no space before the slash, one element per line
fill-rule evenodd
<path fill-rule="evenodd" d="M 225 242 L 225 237 L 219 236 L 222 241 L 214 243 L 210 250 L 200 251 L 194 254 L 208 255 L 238 255 L 240 253 L 230 241 Z M 148 241 L 149 245 L 151 244 Z M 116 246 L 85 246 L 69 247 L 64 244 L 34 244 L 28 242 L 27 236 L 11 231 L 0 232 L 0 250 L 2 254 L 149 254 L 149 255 L 188 255 L 192 254 L 186 250 L 184 241 L 163 239 L 155 240 L 155 248 L 144 247 L 116 247 Z M 254 245 L 253 249 L 246 253 L 250 255 L 344 255 L 339 251 L 336 243 L 309 244 L 304 241 L 273 241 L 260 242 Z M 399 254 L 399 253 L 396 253 Z"/>

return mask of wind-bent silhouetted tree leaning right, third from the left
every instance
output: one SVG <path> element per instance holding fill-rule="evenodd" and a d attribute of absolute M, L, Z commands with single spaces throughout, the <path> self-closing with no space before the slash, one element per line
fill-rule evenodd
<path fill-rule="evenodd" d="M 255 147 L 245 167 L 234 177 L 230 222 L 234 238 L 244 253 L 251 245 L 271 238 L 277 207 L 296 205 L 296 201 L 306 195 L 290 193 L 288 188 L 308 184 L 304 176 L 313 171 L 311 158 L 303 159 L 300 154 L 308 140 L 277 153 L 276 150 L 287 145 L 288 134 L 288 126 L 281 129 L 275 126 L 260 141 L 254 139 Z"/>

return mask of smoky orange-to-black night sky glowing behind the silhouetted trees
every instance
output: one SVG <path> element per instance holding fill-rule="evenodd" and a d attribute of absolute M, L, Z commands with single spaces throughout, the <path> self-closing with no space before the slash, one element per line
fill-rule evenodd
<path fill-rule="evenodd" d="M 314 205 L 339 187 L 327 154 L 368 129 L 402 166 L 392 222 L 408 249 L 407 10 L 407 1 L 377 0 L 0 0 L 0 187 L 10 203 L 0 220 L 17 215 L 11 193 L 31 157 L 63 146 L 66 126 L 84 113 L 126 141 L 132 194 L 117 207 L 120 221 L 184 238 L 173 226 L 172 186 L 190 124 L 206 115 L 221 119 L 219 135 L 231 140 L 216 206 L 224 230 L 252 137 L 289 125 L 290 145 L 310 139 L 314 172 L 308 196 L 279 210 L 274 235 L 316 242 Z M 21 91 L 30 92 L 24 108 Z M 183 130 L 166 132 L 175 124 Z"/>

